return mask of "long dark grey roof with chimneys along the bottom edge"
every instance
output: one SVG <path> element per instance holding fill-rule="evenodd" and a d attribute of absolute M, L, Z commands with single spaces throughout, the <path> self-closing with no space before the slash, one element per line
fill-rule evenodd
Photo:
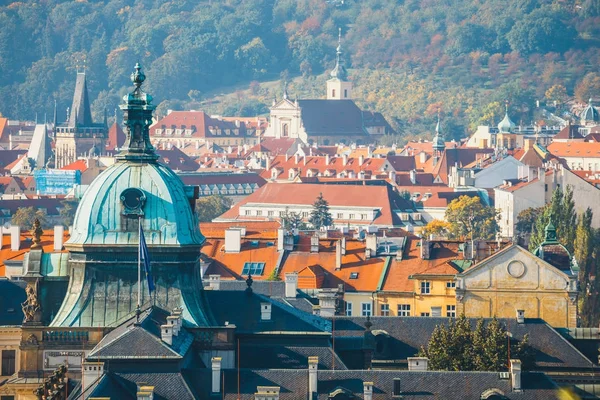
<path fill-rule="evenodd" d="M 204 390 L 201 399 L 210 398 L 210 371 L 189 371 L 188 382 Z M 257 386 L 279 386 L 280 400 L 305 399 L 307 370 L 225 370 L 224 399 L 253 400 Z M 514 393 L 510 380 L 495 372 L 409 372 L 409 371 L 319 371 L 318 398 L 327 400 L 337 389 L 346 389 L 357 399 L 363 398 L 363 382 L 373 382 L 374 399 L 391 399 L 394 379 L 400 379 L 404 399 L 479 399 L 489 389 L 497 389 L 508 399 L 537 400 L 555 397 L 557 386 L 541 373 L 522 375 L 523 391 Z M 239 382 L 239 387 L 238 387 Z M 210 389 L 209 389 L 210 390 Z M 240 397 L 238 397 L 238 391 Z"/>

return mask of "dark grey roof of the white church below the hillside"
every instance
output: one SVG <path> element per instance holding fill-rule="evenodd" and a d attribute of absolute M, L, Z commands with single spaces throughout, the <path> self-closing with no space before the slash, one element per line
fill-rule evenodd
<path fill-rule="evenodd" d="M 311 136 L 366 136 L 362 111 L 352 100 L 298 100 L 304 129 Z"/>

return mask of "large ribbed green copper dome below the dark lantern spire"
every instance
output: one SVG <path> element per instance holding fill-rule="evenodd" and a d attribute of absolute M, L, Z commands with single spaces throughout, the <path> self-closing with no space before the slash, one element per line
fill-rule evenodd
<path fill-rule="evenodd" d="M 139 190 L 143 204 L 128 207 L 128 189 Z M 193 191 L 164 165 L 119 161 L 86 190 L 65 246 L 137 244 L 137 221 L 131 220 L 138 216 L 149 246 L 200 245 L 204 238 L 190 206 L 192 197 Z"/>

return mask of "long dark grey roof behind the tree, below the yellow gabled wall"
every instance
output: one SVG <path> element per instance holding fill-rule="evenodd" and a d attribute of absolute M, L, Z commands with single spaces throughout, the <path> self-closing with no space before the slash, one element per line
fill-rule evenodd
<path fill-rule="evenodd" d="M 490 319 L 486 319 L 489 321 Z M 338 317 L 335 321 L 336 351 L 342 354 L 342 360 L 349 368 L 356 368 L 352 361 L 344 356 L 344 351 L 362 346 L 366 318 Z M 475 324 L 477 319 L 472 318 Z M 536 365 L 540 369 L 588 369 L 593 363 L 572 346 L 557 331 L 543 320 L 528 318 L 523 324 L 516 320 L 501 318 L 499 321 L 516 340 L 522 340 L 529 334 L 529 344 L 536 350 Z M 389 335 L 386 354 L 375 353 L 374 359 L 405 360 L 417 354 L 421 347 L 427 346 L 434 328 L 447 324 L 448 318 L 431 317 L 372 317 L 372 331 L 382 330 Z"/>

